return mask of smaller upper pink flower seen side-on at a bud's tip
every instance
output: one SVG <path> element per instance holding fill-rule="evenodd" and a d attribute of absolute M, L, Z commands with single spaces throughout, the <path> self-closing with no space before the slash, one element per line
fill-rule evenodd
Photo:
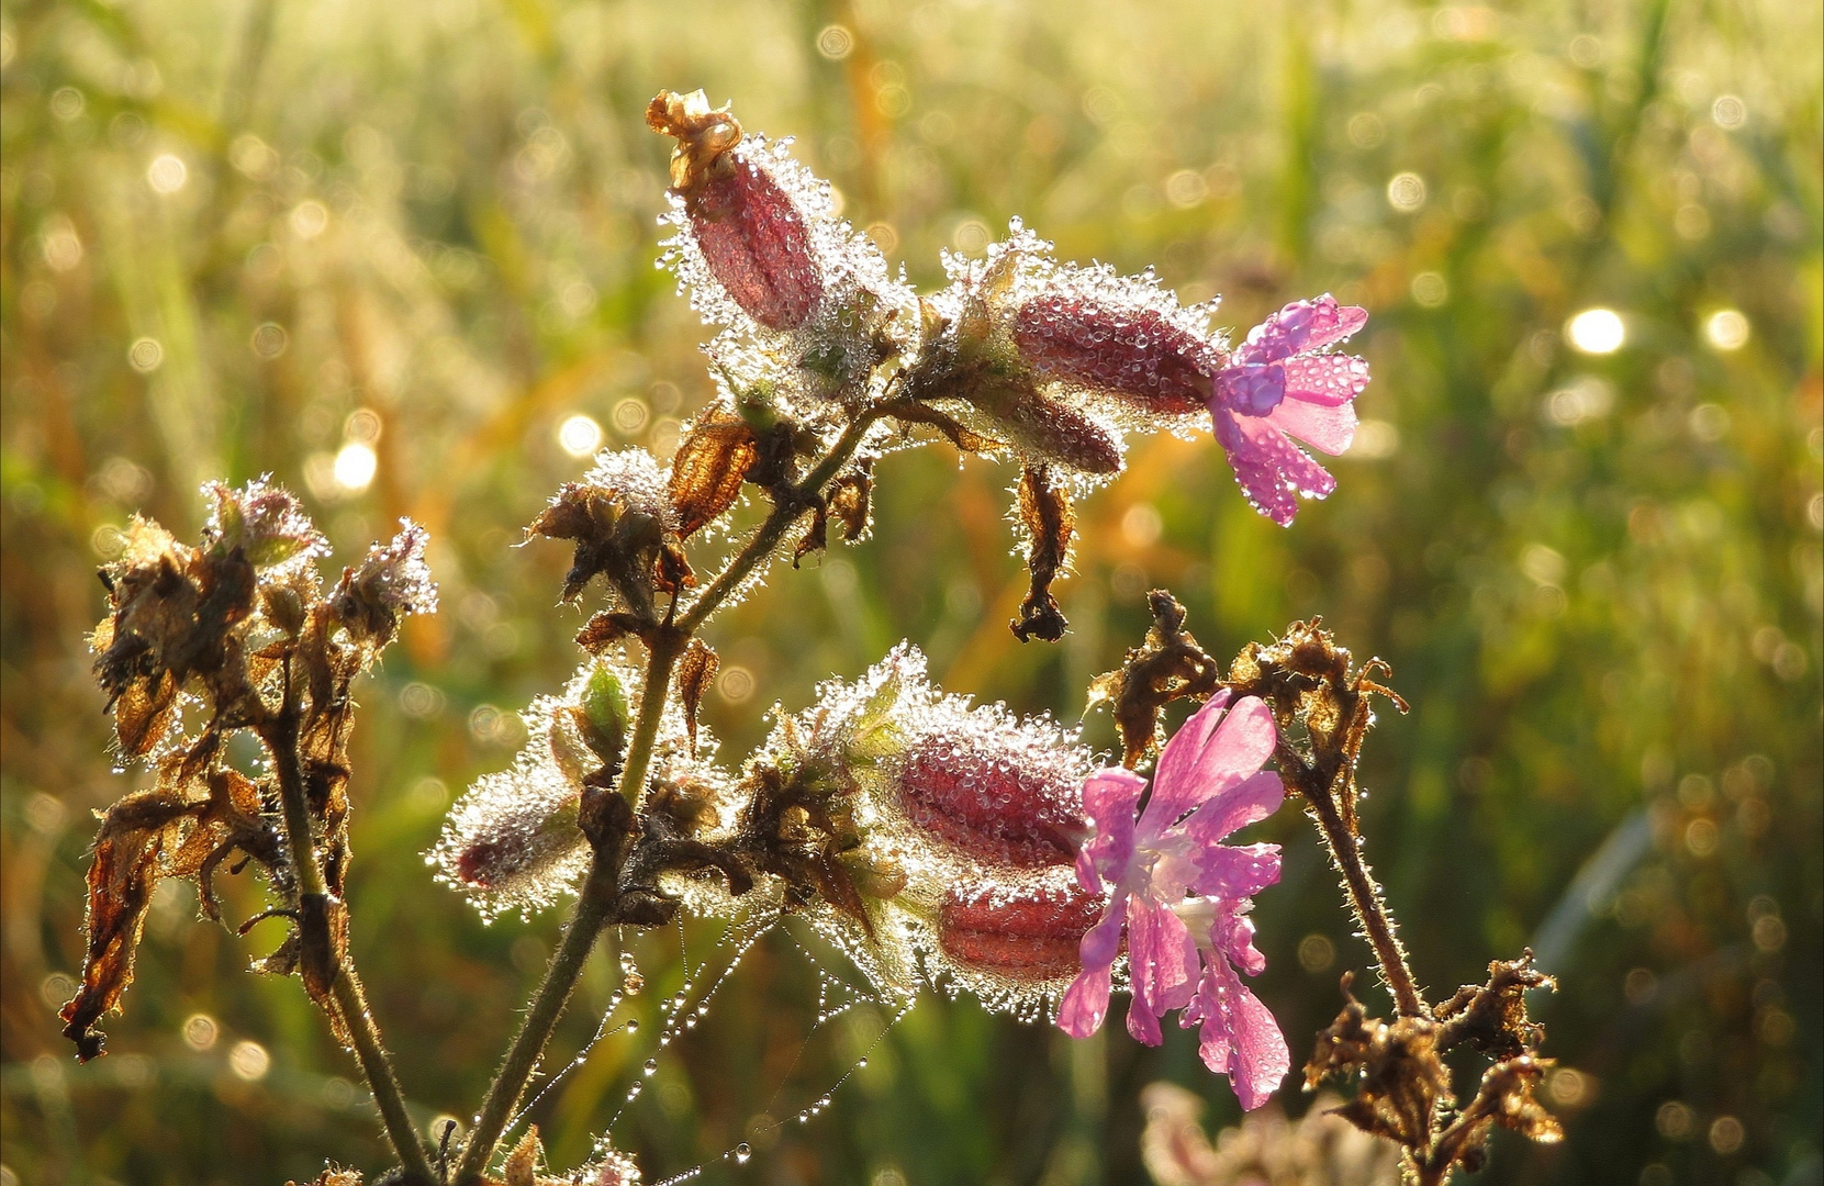
<path fill-rule="evenodd" d="M 1248 334 L 1215 378 L 1209 416 L 1248 502 L 1280 527 L 1299 513 L 1293 493 L 1322 498 L 1337 480 L 1291 438 L 1332 456 L 1355 438 L 1352 400 L 1368 387 L 1368 363 L 1322 354 L 1359 330 L 1368 310 L 1330 294 L 1295 301 Z"/>

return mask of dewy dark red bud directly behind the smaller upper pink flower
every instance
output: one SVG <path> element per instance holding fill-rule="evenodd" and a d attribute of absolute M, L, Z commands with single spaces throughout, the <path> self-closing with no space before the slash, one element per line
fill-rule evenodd
<path fill-rule="evenodd" d="M 1021 305 L 1014 341 L 1040 374 L 1118 396 L 1149 414 L 1202 411 L 1209 369 L 1220 363 L 1206 338 L 1158 308 L 1122 308 L 1071 292 Z"/>

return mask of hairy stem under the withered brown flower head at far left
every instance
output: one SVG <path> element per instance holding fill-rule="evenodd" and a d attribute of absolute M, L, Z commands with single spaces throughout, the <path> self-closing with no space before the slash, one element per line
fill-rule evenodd
<path fill-rule="evenodd" d="M 286 681 L 290 686 L 290 681 Z M 279 801 L 285 806 L 285 841 L 290 848 L 292 870 L 297 878 L 297 929 L 303 951 L 301 973 L 328 982 L 336 1011 L 341 1014 L 343 1029 L 354 1042 L 356 1058 L 361 1064 L 361 1077 L 374 1095 L 374 1106 L 387 1129 L 394 1157 L 405 1168 L 412 1182 L 429 1186 L 436 1181 L 430 1160 L 412 1128 L 412 1117 L 405 1109 L 405 1093 L 399 1089 L 399 1077 L 392 1069 L 392 1058 L 379 1040 L 379 1025 L 374 1022 L 361 982 L 354 971 L 354 956 L 336 952 L 336 940 L 330 931 L 330 890 L 323 878 L 323 865 L 317 861 L 316 836 L 310 827 L 310 805 L 305 792 L 305 770 L 297 757 L 297 708 L 286 693 L 286 704 L 277 717 L 259 730 L 272 766 L 279 775 Z M 310 962 L 319 967 L 312 969 Z"/>

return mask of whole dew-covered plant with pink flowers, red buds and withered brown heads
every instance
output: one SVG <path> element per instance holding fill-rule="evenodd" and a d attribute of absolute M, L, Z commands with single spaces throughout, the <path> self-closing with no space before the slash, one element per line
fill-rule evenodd
<path fill-rule="evenodd" d="M 523 752 L 456 803 L 427 854 L 434 879 L 483 918 L 569 903 L 472 1124 L 445 1126 L 436 1148 L 414 1129 L 348 954 L 343 894 L 352 690 L 401 617 L 436 608 L 425 533 L 401 524 L 326 584 L 323 536 L 264 482 L 208 487 L 195 546 L 135 520 L 102 571 L 95 675 L 120 757 L 155 785 L 115 803 L 97 836 L 89 951 L 62 1014 L 78 1056 L 102 1053 L 97 1022 L 131 980 L 155 883 L 193 879 L 219 918 L 213 876 L 254 865 L 272 909 L 239 932 L 285 931 L 255 969 L 295 974 L 359 1060 L 398 1157 L 378 1181 L 640 1181 L 606 1139 L 569 1173 L 542 1164 L 536 1128 L 503 1146 L 602 932 L 680 916 L 728 920 L 737 945 L 795 916 L 901 1009 L 927 989 L 967 993 L 1082 1038 L 1125 993 L 1136 1040 L 1160 1044 L 1176 1014 L 1209 1071 L 1255 1109 L 1291 1071 L 1270 1004 L 1244 980 L 1266 965 L 1253 898 L 1280 867 L 1275 845 L 1233 834 L 1293 796 L 1394 998 L 1392 1020 L 1370 1018 L 1344 980 L 1306 1087 L 1353 1086 L 1339 1115 L 1394 1142 L 1415 1182 L 1479 1166 L 1496 1126 L 1554 1140 L 1534 1100 L 1543 1035 L 1523 998 L 1550 980 L 1527 952 L 1492 963 L 1483 985 L 1425 1000 L 1355 814 L 1370 701 L 1404 702 L 1379 682 L 1384 664 L 1353 664 L 1317 620 L 1224 670 L 1178 602 L 1153 593 L 1142 646 L 1087 690 L 1118 728 L 1113 765 L 1054 721 L 945 693 L 912 642 L 857 681 L 819 684 L 799 712 L 775 708 L 764 744 L 739 763 L 699 723 L 719 668 L 710 619 L 777 562 L 828 549 L 832 527 L 865 540 L 876 462 L 894 451 L 936 445 L 1018 467 L 1012 518 L 1031 586 L 1009 626 L 1021 640 L 1065 633 L 1054 588 L 1071 564 L 1073 502 L 1122 473 L 1127 434 L 1213 431 L 1246 498 L 1291 525 L 1301 496 L 1335 485 L 1299 442 L 1350 447 L 1368 369 L 1333 347 L 1366 312 L 1297 301 L 1231 343 L 1209 327 L 1213 303 L 1182 307 L 1149 274 L 1063 263 L 1018 223 L 981 259 L 945 257 L 947 286 L 919 294 L 835 217 L 784 142 L 744 135 L 702 93 L 662 93 L 648 122 L 677 140 L 664 265 L 720 327 L 706 347 L 717 398 L 669 462 L 602 453 L 527 529 L 573 547 L 562 600 L 600 608 L 576 635 L 575 677 L 525 710 Z M 1173 701 L 1193 712 L 1167 739 Z M 640 987 L 624 963 L 613 1000 Z M 688 993 L 669 1002 L 658 1046 L 700 1016 L 688 1004 Z M 1490 1064 L 1466 1104 L 1445 1062 L 1454 1049 Z"/>

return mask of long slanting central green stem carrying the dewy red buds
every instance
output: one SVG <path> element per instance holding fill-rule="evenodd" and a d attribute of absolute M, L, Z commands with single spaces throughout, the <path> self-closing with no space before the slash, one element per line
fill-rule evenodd
<path fill-rule="evenodd" d="M 633 728 L 633 739 L 627 743 L 626 766 L 620 774 L 622 792 L 626 794 L 627 788 L 633 788 L 629 803 L 637 801 L 638 788 L 646 785 L 646 770 L 653 759 L 653 743 L 658 739 L 658 723 L 664 717 L 666 697 L 669 695 L 671 668 L 677 664 L 684 644 L 741 588 L 741 582 L 773 553 L 792 524 L 804 515 L 812 500 L 855 454 L 855 449 L 861 447 L 861 438 L 866 436 L 874 421 L 892 414 L 894 407 L 897 407 L 896 401 L 885 401 L 857 416 L 830 447 L 830 453 L 804 474 L 803 482 L 792 485 L 782 494 L 775 494 L 773 511 L 761 524 L 761 529 L 735 553 L 728 567 L 717 573 L 715 580 L 697 595 L 684 615 L 655 633 L 646 684 L 640 693 L 640 719 Z M 480 1113 L 482 1118 L 476 1120 L 474 1131 L 463 1148 L 461 1162 L 458 1162 L 456 1173 L 451 1179 L 456 1186 L 474 1186 L 474 1182 L 482 1181 L 482 1171 L 492 1160 L 494 1148 L 500 1144 L 502 1133 L 520 1106 L 525 1084 L 538 1067 L 545 1044 L 556 1029 L 558 1016 L 564 1013 L 564 1005 L 569 1002 L 578 976 L 582 976 L 582 965 L 589 958 L 595 940 L 613 921 L 620 898 L 622 856 L 624 850 L 611 854 L 598 850 L 595 854 L 589 878 L 584 881 L 576 901 L 576 912 L 564 932 L 564 943 L 551 956 L 545 978 L 538 983 L 538 993 L 525 1013 L 525 1022 L 520 1025 L 520 1033 L 514 1035 L 513 1046 L 500 1064 L 500 1073 L 494 1075 L 494 1082 L 487 1089 L 487 1100 L 482 1104 Z"/>

